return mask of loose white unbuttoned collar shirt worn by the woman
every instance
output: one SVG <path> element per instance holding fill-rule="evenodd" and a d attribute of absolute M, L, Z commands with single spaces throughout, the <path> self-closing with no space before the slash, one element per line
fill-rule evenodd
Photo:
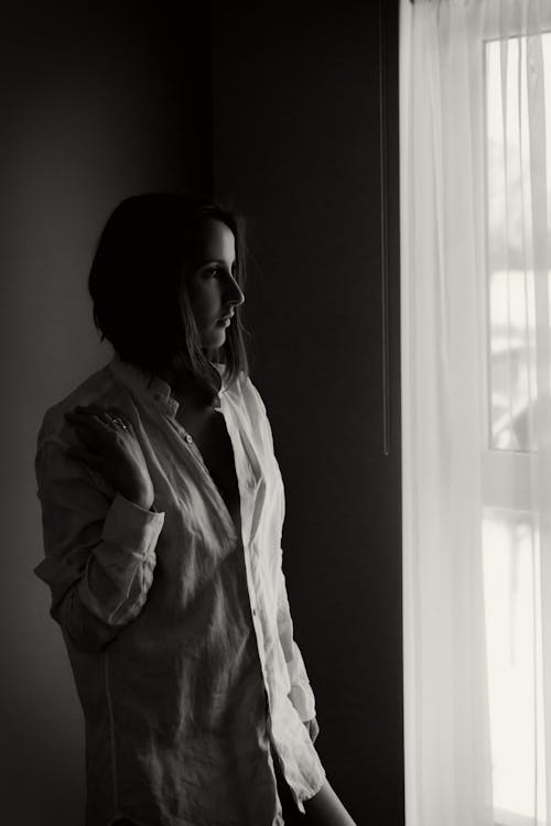
<path fill-rule="evenodd" d="M 271 748 L 302 812 L 325 780 L 303 725 L 315 705 L 293 640 L 266 407 L 244 373 L 218 400 L 240 536 L 169 384 L 119 357 L 51 407 L 39 434 L 35 573 L 52 589 L 85 715 L 87 826 L 279 826 Z M 64 413 L 93 403 L 132 423 L 152 511 L 65 453 L 78 441 Z"/>

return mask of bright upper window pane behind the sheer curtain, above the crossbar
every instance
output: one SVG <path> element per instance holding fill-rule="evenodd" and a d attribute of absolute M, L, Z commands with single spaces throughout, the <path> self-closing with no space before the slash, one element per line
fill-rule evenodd
<path fill-rule="evenodd" d="M 551 32 L 542 36 L 542 45 L 544 118 L 551 107 Z M 530 220 L 533 170 L 527 89 L 532 70 L 530 39 L 489 41 L 485 51 L 490 445 L 529 450 L 534 447 L 529 445 L 528 434 L 536 387 L 534 228 Z M 545 149 L 551 169 L 551 142 Z M 551 290 L 548 292 L 551 294 Z"/>

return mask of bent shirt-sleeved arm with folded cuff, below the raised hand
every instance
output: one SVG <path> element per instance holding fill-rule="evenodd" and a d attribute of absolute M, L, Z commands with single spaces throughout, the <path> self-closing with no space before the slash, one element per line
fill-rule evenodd
<path fill-rule="evenodd" d="M 145 602 L 164 513 L 109 496 L 61 441 L 42 443 L 35 469 L 45 559 L 34 572 L 75 648 L 97 652 Z"/>

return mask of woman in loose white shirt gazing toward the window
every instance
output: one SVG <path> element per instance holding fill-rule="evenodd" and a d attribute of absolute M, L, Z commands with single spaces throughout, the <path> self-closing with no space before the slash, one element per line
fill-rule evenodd
<path fill-rule="evenodd" d="M 273 826 L 281 803 L 287 824 L 353 824 L 313 746 L 244 258 L 217 205 L 125 200 L 89 278 L 115 356 L 39 435 L 35 573 L 85 714 L 87 826 Z"/>

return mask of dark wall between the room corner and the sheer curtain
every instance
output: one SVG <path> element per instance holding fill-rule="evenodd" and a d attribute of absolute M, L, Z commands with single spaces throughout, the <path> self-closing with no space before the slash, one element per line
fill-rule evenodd
<path fill-rule="evenodd" d="M 395 3 L 214 0 L 214 182 L 249 219 L 251 377 L 285 482 L 327 775 L 403 823 Z"/>

